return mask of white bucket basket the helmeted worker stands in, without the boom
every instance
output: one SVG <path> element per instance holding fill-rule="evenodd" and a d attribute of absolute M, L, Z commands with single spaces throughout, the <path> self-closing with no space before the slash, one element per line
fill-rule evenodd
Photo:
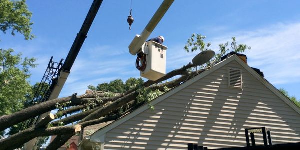
<path fill-rule="evenodd" d="M 140 71 L 140 76 L 154 81 L 165 75 L 166 49 L 166 46 L 154 41 L 142 45 L 142 52 L 146 55 L 146 68 Z"/>

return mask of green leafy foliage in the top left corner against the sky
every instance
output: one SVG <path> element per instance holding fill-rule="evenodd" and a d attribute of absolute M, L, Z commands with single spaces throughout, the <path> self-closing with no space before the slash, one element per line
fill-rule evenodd
<path fill-rule="evenodd" d="M 26 40 L 32 39 L 30 22 L 32 13 L 28 10 L 26 0 L 0 0 L 0 30 L 11 35 L 19 32 Z"/>

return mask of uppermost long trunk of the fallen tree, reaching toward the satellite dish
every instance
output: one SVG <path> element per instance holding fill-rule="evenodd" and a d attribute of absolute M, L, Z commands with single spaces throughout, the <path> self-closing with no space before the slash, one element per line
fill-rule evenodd
<path fill-rule="evenodd" d="M 156 81 L 146 81 L 143 85 L 145 87 L 148 87 L 152 84 L 159 83 L 160 81 L 169 79 L 173 76 L 180 75 L 180 74 L 186 74 L 187 73 L 186 69 L 193 67 L 193 66 L 194 66 L 194 64 L 187 64 L 186 66 L 183 66 L 180 69 L 173 70 L 173 71 L 167 73 L 164 77 L 162 77 Z M 136 89 L 132 89 L 130 91 L 133 92 L 134 90 L 136 90 Z M 128 91 L 127 93 L 131 93 L 130 91 Z M 117 94 L 117 93 L 115 93 L 115 94 Z M 81 105 L 81 104 L 87 103 L 90 100 L 97 100 L 96 99 L 97 97 L 101 97 L 104 95 L 105 95 L 105 92 L 92 92 L 92 93 L 84 94 L 84 95 L 81 95 L 78 97 L 75 95 L 72 95 L 69 97 L 57 98 L 57 99 L 49 100 L 46 102 L 42 102 L 40 104 L 23 109 L 21 111 L 15 112 L 10 115 L 1 116 L 0 117 L 0 131 L 4 130 L 12 125 L 15 125 L 17 123 L 20 123 L 22 121 L 30 119 L 32 117 L 35 117 L 37 115 L 54 110 L 54 109 L 56 109 L 57 103 L 62 104 L 62 103 L 71 101 L 69 106 Z M 119 98 L 122 98 L 123 96 L 124 96 L 123 94 L 117 94 L 114 97 L 101 98 L 102 104 L 106 103 L 108 101 L 115 101 Z M 98 104 L 101 104 L 101 103 L 98 103 Z"/>

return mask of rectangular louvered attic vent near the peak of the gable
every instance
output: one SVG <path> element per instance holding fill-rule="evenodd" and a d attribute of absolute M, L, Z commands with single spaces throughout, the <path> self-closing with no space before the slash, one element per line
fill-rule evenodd
<path fill-rule="evenodd" d="M 242 88 L 241 69 L 228 68 L 228 87 Z"/>

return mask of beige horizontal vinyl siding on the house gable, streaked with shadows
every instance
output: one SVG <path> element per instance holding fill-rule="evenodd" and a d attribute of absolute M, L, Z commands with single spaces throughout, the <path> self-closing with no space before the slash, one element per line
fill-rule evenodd
<path fill-rule="evenodd" d="M 242 70 L 242 89 L 229 88 L 227 68 Z M 274 144 L 300 142 L 300 115 L 236 61 L 221 67 L 106 133 L 105 149 L 245 146 L 244 128 L 271 129 Z M 262 145 L 261 134 L 255 134 Z"/>

